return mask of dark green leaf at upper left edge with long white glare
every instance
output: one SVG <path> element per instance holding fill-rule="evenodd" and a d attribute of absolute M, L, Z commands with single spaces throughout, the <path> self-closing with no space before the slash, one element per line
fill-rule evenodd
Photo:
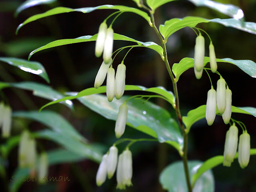
<path fill-rule="evenodd" d="M 13 58 L 13 57 L 0 57 L 0 61 L 6 62 L 10 65 L 16 66 L 23 71 L 33 73 L 42 77 L 46 82 L 50 83 L 44 66 L 36 61 L 27 61 L 24 59 Z"/>

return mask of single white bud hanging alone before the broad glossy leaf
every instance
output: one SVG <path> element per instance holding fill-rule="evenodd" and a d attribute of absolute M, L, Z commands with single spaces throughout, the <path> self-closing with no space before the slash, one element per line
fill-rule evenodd
<path fill-rule="evenodd" d="M 122 134 L 124 134 L 127 114 L 128 114 L 128 106 L 126 105 L 126 102 L 124 102 L 122 105 L 120 105 L 117 118 L 116 118 L 116 126 L 115 126 L 116 138 L 120 138 Z"/>

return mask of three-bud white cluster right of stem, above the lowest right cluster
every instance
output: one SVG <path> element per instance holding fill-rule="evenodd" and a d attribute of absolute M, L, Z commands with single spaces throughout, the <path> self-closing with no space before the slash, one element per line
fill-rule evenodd
<path fill-rule="evenodd" d="M 222 76 L 220 76 L 217 82 L 217 91 L 215 91 L 212 86 L 207 94 L 205 118 L 209 126 L 214 122 L 216 106 L 218 107 L 219 113 L 222 115 L 224 123 L 228 124 L 232 113 L 232 92 L 228 86 L 226 88 L 226 82 Z"/>

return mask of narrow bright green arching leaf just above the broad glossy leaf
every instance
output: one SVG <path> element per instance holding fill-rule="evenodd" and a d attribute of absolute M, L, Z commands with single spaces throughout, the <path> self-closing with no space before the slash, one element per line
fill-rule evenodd
<path fill-rule="evenodd" d="M 146 87 L 143 87 L 143 86 L 126 85 L 124 90 L 126 90 L 126 91 L 138 90 L 138 91 L 146 91 L 146 92 L 157 93 L 157 94 L 160 94 L 160 95 L 164 96 L 170 102 L 170 104 L 172 104 L 173 107 L 174 107 L 174 104 L 175 104 L 174 94 L 171 91 L 167 91 L 165 88 L 163 88 L 161 86 L 160 87 L 154 87 L 154 88 L 146 88 Z M 72 99 L 76 99 L 76 98 L 79 98 L 79 97 L 92 95 L 92 94 L 99 94 L 99 93 L 106 93 L 106 86 L 100 86 L 98 89 L 96 89 L 96 88 L 87 88 L 85 90 L 80 91 L 79 93 L 75 93 L 76 96 L 67 96 L 67 97 L 49 102 L 48 104 L 42 106 L 40 108 L 40 110 L 42 110 L 43 108 L 45 108 L 49 105 L 56 104 L 56 103 L 59 103 L 59 102 L 62 102 L 62 101 L 72 100 Z M 74 94 L 72 94 L 72 95 L 74 95 Z"/>

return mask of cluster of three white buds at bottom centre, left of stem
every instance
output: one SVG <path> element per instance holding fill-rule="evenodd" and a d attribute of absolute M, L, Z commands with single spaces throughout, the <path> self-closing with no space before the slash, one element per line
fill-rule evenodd
<path fill-rule="evenodd" d="M 118 149 L 112 146 L 109 153 L 102 157 L 102 161 L 96 175 L 96 184 L 102 185 L 108 175 L 112 178 L 116 171 L 116 188 L 125 189 L 126 186 L 132 185 L 132 152 L 127 148 L 118 157 Z"/>

